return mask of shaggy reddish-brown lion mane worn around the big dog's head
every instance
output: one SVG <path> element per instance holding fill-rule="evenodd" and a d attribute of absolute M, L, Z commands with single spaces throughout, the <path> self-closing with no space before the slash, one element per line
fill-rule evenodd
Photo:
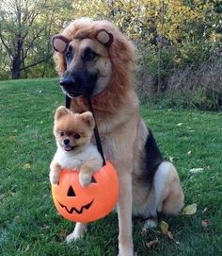
<path fill-rule="evenodd" d="M 103 94 L 93 98 L 94 108 L 105 111 L 117 111 L 119 101 L 125 100 L 125 94 L 129 94 L 135 84 L 135 46 L 127 40 L 113 24 L 107 21 L 94 21 L 89 19 L 79 19 L 72 22 L 61 33 L 70 41 L 75 39 L 92 39 L 94 41 L 98 30 L 106 29 L 115 37 L 114 42 L 109 47 L 109 59 L 112 63 L 112 74 L 109 86 Z M 101 43 L 97 43 L 101 47 Z M 56 52 L 56 70 L 60 76 L 66 71 L 64 54 Z M 76 99 L 77 105 L 83 108 L 86 101 L 82 98 Z"/>

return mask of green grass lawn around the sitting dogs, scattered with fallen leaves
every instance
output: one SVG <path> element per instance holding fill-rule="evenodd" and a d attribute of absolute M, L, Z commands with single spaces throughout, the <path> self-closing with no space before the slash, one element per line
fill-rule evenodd
<path fill-rule="evenodd" d="M 117 214 L 89 225 L 78 243 L 66 245 L 73 224 L 56 214 L 48 179 L 56 151 L 53 112 L 64 103 L 57 79 L 0 82 L 0 255 L 112 256 L 118 252 Z M 159 110 L 141 114 L 167 159 L 178 168 L 191 216 L 167 217 L 175 241 L 135 222 L 135 250 L 145 255 L 222 255 L 222 114 Z M 191 168 L 204 168 L 197 174 Z M 210 224 L 203 228 L 201 221 Z M 146 243 L 158 238 L 157 247 Z"/>

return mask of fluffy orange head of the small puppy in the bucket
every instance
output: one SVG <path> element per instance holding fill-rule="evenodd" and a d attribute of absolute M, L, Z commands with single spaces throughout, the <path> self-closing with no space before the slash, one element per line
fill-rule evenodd
<path fill-rule="evenodd" d="M 59 107 L 55 114 L 56 144 L 65 151 L 81 151 L 90 143 L 95 121 L 92 113 L 72 113 Z"/>

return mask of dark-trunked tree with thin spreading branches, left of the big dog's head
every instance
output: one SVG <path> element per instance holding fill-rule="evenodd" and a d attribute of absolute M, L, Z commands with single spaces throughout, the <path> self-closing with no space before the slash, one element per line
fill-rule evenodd
<path fill-rule="evenodd" d="M 13 79 L 20 78 L 22 73 L 24 77 L 28 77 L 31 68 L 45 64 L 51 59 L 50 37 L 62 26 L 59 11 L 66 9 L 64 7 L 67 8 L 67 13 L 70 13 L 71 1 L 1 2 L 0 42 L 4 53 L 8 55 Z"/>

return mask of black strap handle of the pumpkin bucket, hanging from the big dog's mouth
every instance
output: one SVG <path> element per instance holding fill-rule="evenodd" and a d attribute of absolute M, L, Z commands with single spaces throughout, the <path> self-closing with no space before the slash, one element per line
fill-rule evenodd
<path fill-rule="evenodd" d="M 99 134 L 99 130 L 98 130 L 98 127 L 97 127 L 97 124 L 96 124 L 95 114 L 94 114 L 94 111 L 92 109 L 90 96 L 87 96 L 87 104 L 88 104 L 89 111 L 92 112 L 93 117 L 95 119 L 94 136 L 95 136 L 95 139 L 96 139 L 97 149 L 98 149 L 98 151 L 100 152 L 100 154 L 103 158 L 103 166 L 104 166 L 105 165 L 105 159 L 104 159 L 104 154 L 103 154 L 103 146 L 102 146 L 102 143 L 101 143 L 101 137 L 100 137 L 100 134 Z M 71 98 L 68 95 L 66 95 L 66 108 L 67 109 L 71 108 Z"/>

